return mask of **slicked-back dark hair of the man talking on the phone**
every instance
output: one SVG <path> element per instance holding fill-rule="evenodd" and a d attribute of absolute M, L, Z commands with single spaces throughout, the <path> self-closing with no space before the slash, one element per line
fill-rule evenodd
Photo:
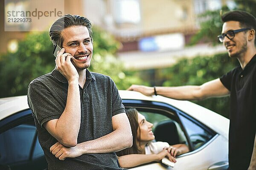
<path fill-rule="evenodd" d="M 55 20 L 51 28 L 49 29 L 49 36 L 52 40 L 52 44 L 62 47 L 63 39 L 61 33 L 65 28 L 71 26 L 86 26 L 88 28 L 90 38 L 93 42 L 93 31 L 91 22 L 87 18 L 81 17 L 79 15 L 65 14 Z"/>

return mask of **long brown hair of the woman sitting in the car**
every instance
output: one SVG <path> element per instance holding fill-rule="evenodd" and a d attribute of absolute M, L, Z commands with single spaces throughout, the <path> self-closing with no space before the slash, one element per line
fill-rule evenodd
<path fill-rule="evenodd" d="M 129 147 L 124 150 L 120 150 L 119 152 L 116 152 L 117 156 L 141 153 L 141 151 L 138 149 L 137 144 L 136 144 L 137 129 L 139 128 L 139 131 L 140 131 L 140 127 L 139 127 L 139 123 L 138 123 L 138 111 L 134 108 L 131 108 L 131 109 L 125 110 L 125 112 L 130 121 L 133 144 L 132 144 L 132 147 Z"/>

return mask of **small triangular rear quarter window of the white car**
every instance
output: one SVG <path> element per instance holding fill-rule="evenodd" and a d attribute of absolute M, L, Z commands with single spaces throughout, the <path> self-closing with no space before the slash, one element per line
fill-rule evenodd
<path fill-rule="evenodd" d="M 204 145 L 215 135 L 204 125 L 193 119 L 189 119 L 188 116 L 184 116 L 183 114 L 180 114 L 180 121 L 186 129 L 194 150 Z"/>

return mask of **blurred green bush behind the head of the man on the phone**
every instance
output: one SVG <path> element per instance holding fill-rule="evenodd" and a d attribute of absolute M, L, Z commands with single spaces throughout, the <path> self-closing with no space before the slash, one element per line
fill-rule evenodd
<path fill-rule="evenodd" d="M 141 83 L 134 74 L 125 72 L 116 59 L 119 42 L 99 28 L 93 28 L 93 39 L 90 71 L 110 76 L 119 89 Z M 55 67 L 52 50 L 47 32 L 31 32 L 18 42 L 17 52 L 0 55 L 0 97 L 24 95 L 32 79 L 52 71 Z"/>

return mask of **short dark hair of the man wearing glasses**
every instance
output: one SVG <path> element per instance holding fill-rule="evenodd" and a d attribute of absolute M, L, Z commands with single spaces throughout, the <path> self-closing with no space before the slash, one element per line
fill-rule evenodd
<path fill-rule="evenodd" d="M 238 21 L 241 28 L 250 28 L 256 31 L 256 18 L 245 11 L 230 11 L 221 16 L 221 20 L 223 23 L 228 21 Z M 256 36 L 256 34 L 254 35 Z M 254 40 L 254 44 L 256 41 Z"/>

